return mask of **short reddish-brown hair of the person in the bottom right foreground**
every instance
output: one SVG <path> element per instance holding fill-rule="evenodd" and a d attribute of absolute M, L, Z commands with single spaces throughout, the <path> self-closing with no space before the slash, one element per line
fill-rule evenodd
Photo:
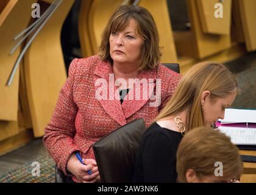
<path fill-rule="evenodd" d="M 186 173 L 193 169 L 196 176 L 215 176 L 215 163 L 222 163 L 223 179 L 240 179 L 243 161 L 238 148 L 219 130 L 197 127 L 188 132 L 177 149 L 177 174 L 179 182 L 188 182 Z"/>

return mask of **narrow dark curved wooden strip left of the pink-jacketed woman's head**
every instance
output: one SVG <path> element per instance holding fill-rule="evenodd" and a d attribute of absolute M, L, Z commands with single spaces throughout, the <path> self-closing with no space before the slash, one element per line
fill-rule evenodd
<path fill-rule="evenodd" d="M 80 47 L 82 52 L 82 57 L 89 57 L 93 55 L 93 48 L 91 45 L 91 39 L 89 35 L 89 26 L 88 26 L 88 15 L 93 0 L 87 0 L 81 2 L 81 8 L 79 12 L 78 20 L 78 32 Z"/>

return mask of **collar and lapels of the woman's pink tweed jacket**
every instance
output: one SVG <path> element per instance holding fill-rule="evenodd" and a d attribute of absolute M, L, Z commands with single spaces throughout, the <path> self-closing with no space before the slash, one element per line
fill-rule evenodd
<path fill-rule="evenodd" d="M 112 65 L 100 61 L 94 71 L 96 99 L 111 118 L 124 126 L 127 123 L 126 119 L 138 112 L 149 101 L 154 93 L 156 75 L 156 69 L 140 71 L 137 82 L 130 88 L 121 104 Z M 99 94 L 100 92 L 102 94 Z"/>

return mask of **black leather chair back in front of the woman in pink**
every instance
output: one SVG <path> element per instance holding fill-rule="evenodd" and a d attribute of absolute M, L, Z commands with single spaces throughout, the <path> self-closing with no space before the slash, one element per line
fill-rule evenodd
<path fill-rule="evenodd" d="M 136 119 L 93 144 L 101 182 L 132 182 L 135 155 L 146 126 Z"/>

